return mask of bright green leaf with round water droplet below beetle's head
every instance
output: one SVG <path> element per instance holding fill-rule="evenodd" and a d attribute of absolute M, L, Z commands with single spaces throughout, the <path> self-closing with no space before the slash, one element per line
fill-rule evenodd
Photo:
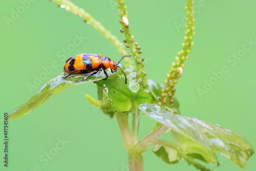
<path fill-rule="evenodd" d="M 105 95 L 111 99 L 116 111 L 127 112 L 138 108 L 141 103 L 152 102 L 152 97 L 139 86 L 138 82 L 127 79 L 127 84 L 125 84 L 123 74 L 121 72 L 118 74 L 115 79 L 96 82 Z"/>

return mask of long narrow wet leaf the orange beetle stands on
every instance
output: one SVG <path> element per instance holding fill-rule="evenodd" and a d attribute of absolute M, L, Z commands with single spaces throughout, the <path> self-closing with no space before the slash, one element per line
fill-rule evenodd
<path fill-rule="evenodd" d="M 76 82 L 76 80 L 80 80 L 86 77 L 88 74 L 76 74 L 66 79 L 63 79 L 62 77 L 66 75 L 67 73 L 60 73 L 59 75 L 51 79 L 49 82 L 47 82 L 44 86 L 42 86 L 39 89 L 39 91 L 35 95 L 32 96 L 32 98 L 26 104 L 21 105 L 18 108 L 16 108 L 14 111 L 12 111 L 12 113 L 8 117 L 8 120 L 16 119 L 32 112 L 33 110 L 38 108 L 38 106 L 46 102 L 46 100 L 49 99 L 50 96 L 62 90 L 65 90 L 70 86 L 81 84 L 81 83 L 98 81 L 106 77 L 103 72 L 99 72 L 95 75 L 88 77 L 84 81 Z M 117 74 L 111 75 L 109 76 L 109 78 L 113 78 L 115 75 Z"/>

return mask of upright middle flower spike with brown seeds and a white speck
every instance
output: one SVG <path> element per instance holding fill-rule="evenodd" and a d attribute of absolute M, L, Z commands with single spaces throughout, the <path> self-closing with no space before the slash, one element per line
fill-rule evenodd
<path fill-rule="evenodd" d="M 143 65 L 142 65 L 142 60 L 140 58 L 140 47 L 138 45 L 135 45 L 134 42 L 134 37 L 131 35 L 131 31 L 129 29 L 129 24 L 123 22 L 123 17 L 128 17 L 127 15 L 127 11 L 126 8 L 127 6 L 124 6 L 124 1 L 123 0 L 116 0 L 116 2 L 118 3 L 118 9 L 119 9 L 119 16 L 121 18 L 120 24 L 122 25 L 123 29 L 122 32 L 124 33 L 124 36 L 126 38 L 126 42 L 127 45 L 126 47 L 129 48 L 131 50 L 132 56 L 134 57 L 135 61 L 136 61 L 136 70 L 137 70 L 137 75 L 136 75 L 136 79 L 137 82 L 139 82 L 142 86 L 143 85 L 143 78 L 144 78 L 144 71 L 143 71 Z"/>

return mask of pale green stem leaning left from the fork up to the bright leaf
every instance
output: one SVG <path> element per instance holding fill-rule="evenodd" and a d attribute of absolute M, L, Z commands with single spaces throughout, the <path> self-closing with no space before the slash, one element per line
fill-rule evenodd
<path fill-rule="evenodd" d="M 132 135 L 131 135 L 131 132 L 129 129 L 129 123 L 128 123 L 129 113 L 123 114 L 121 112 L 115 112 L 115 114 L 116 114 L 116 120 L 118 122 L 118 126 L 121 132 L 124 146 L 126 150 L 129 152 L 130 149 L 133 147 Z"/>

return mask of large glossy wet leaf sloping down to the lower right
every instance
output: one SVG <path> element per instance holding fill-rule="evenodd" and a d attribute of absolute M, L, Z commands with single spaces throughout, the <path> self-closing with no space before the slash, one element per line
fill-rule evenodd
<path fill-rule="evenodd" d="M 240 168 L 244 168 L 246 161 L 254 153 L 248 141 L 219 125 L 173 114 L 157 104 L 141 104 L 139 109 L 156 121 L 171 127 L 174 132 L 220 153 Z M 179 138 L 176 140 L 179 142 Z"/>

